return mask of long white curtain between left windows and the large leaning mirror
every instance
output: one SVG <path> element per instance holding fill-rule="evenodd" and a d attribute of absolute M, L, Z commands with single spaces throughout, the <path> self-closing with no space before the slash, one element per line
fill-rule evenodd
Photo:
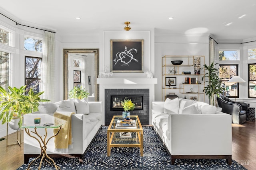
<path fill-rule="evenodd" d="M 43 99 L 55 102 L 55 33 L 44 31 L 43 34 L 43 57 L 42 57 L 42 94 Z"/>

